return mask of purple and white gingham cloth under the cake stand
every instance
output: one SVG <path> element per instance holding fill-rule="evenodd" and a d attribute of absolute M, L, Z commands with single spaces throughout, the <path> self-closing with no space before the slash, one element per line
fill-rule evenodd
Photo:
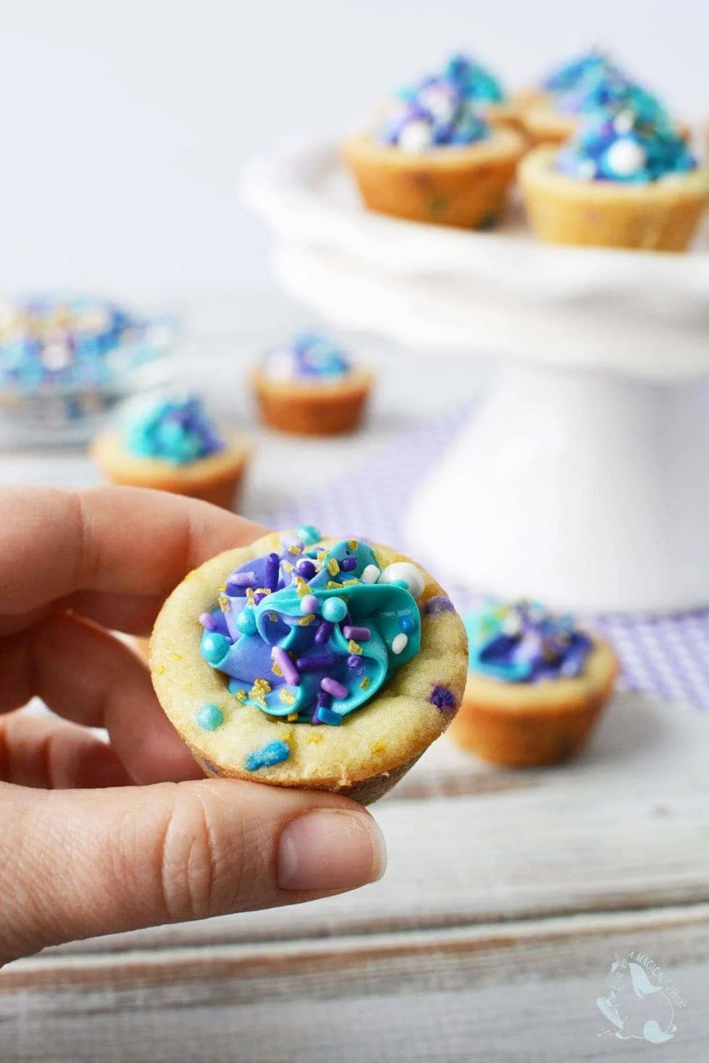
<path fill-rule="evenodd" d="M 297 504 L 254 516 L 271 527 L 313 523 L 332 535 L 356 535 L 406 551 L 402 514 L 409 493 L 468 412 L 462 409 L 408 432 L 349 470 L 347 480 L 330 484 Z M 465 588 L 448 589 L 458 609 L 465 611 L 474 604 L 474 595 Z M 615 647 L 626 689 L 709 708 L 709 610 L 646 619 L 620 614 L 590 619 Z"/>

